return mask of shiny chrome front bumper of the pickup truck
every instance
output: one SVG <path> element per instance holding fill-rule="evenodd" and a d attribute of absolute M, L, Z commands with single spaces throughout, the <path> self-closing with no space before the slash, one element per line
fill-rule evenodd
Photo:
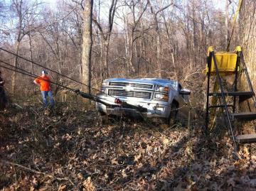
<path fill-rule="evenodd" d="M 114 104 L 114 99 L 112 100 L 110 97 L 102 97 L 102 101 L 107 102 L 108 104 L 112 104 L 112 107 L 107 107 L 104 104 L 96 103 L 96 109 L 97 111 L 104 112 L 105 114 L 117 116 L 144 116 L 147 118 L 160 117 L 166 119 L 169 117 L 171 107 L 169 106 L 168 102 L 144 99 L 137 99 L 137 102 L 134 102 L 134 99 L 135 98 L 122 99 L 122 101 L 133 104 L 135 106 L 140 105 L 141 107 L 146 108 L 146 112 L 139 112 L 136 109 L 121 107 L 118 104 Z"/>

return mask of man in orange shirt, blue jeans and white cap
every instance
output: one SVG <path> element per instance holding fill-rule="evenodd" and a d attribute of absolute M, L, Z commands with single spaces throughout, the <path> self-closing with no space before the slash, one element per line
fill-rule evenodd
<path fill-rule="evenodd" d="M 54 106 L 53 93 L 50 90 L 50 78 L 47 76 L 47 72 L 43 70 L 41 76 L 36 78 L 33 82 L 40 86 L 40 90 L 43 96 L 43 105 L 44 107 L 48 106 L 47 97 L 50 98 L 50 106 Z"/>

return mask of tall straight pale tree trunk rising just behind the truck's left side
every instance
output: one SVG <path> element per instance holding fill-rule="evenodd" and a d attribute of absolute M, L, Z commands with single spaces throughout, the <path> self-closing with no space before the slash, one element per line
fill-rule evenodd
<path fill-rule="evenodd" d="M 82 87 L 82 91 L 89 94 L 91 85 L 90 62 L 92 54 L 92 6 L 93 0 L 85 1 L 82 31 L 82 83 L 87 85 L 86 87 Z"/>

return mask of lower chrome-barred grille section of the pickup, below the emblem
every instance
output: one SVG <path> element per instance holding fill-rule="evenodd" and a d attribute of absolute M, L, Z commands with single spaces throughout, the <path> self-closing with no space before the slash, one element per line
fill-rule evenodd
<path fill-rule="evenodd" d="M 139 97 L 144 99 L 151 98 L 151 92 L 126 92 L 122 89 L 110 89 L 109 94 L 111 96 L 121 96 L 121 97 Z"/>

